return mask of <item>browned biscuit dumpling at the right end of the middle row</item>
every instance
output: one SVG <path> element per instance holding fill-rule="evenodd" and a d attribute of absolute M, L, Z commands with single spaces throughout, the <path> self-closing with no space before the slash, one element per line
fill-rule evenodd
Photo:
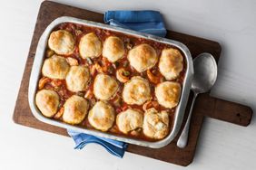
<path fill-rule="evenodd" d="M 156 86 L 155 96 L 160 105 L 172 109 L 179 103 L 181 90 L 178 82 L 164 81 Z"/>

